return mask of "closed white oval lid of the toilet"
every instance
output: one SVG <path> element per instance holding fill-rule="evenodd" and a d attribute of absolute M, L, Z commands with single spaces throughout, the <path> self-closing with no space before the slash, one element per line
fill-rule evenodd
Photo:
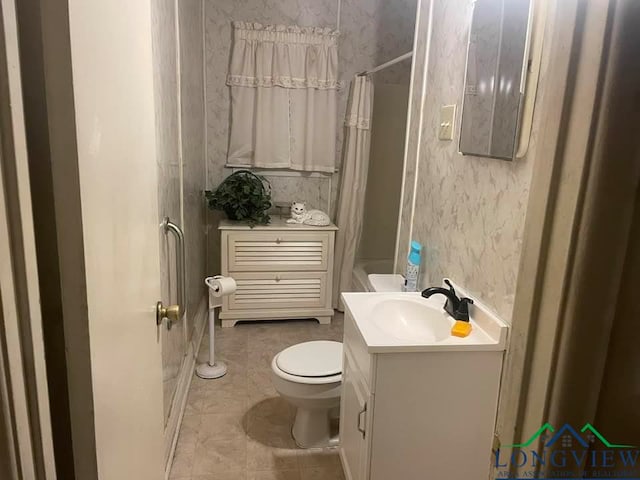
<path fill-rule="evenodd" d="M 298 343 L 276 358 L 278 368 L 297 377 L 328 377 L 342 372 L 342 343 L 328 340 Z"/>

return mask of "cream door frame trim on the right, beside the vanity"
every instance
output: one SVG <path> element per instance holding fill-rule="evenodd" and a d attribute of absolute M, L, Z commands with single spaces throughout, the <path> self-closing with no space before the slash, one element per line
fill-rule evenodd
<path fill-rule="evenodd" d="M 579 339 L 570 334 L 568 327 L 576 331 L 582 320 L 576 318 L 577 303 L 597 301 L 602 298 L 600 294 L 605 295 L 604 290 L 616 287 L 615 282 L 603 285 L 603 291 L 591 292 L 593 298 L 585 298 L 585 292 L 580 290 L 580 276 L 596 275 L 598 272 L 594 269 L 599 270 L 600 275 L 615 276 L 615 272 L 604 272 L 597 266 L 589 270 L 593 262 L 588 256 L 584 257 L 586 235 L 593 235 L 589 232 L 589 228 L 593 228 L 592 204 L 599 201 L 600 207 L 607 202 L 613 206 L 611 202 L 619 200 L 607 199 L 602 192 L 596 198 L 598 192 L 591 188 L 590 182 L 593 183 L 594 175 L 599 175 L 598 169 L 602 171 L 602 168 L 613 167 L 617 169 L 616 174 L 627 177 L 638 174 L 637 168 L 632 168 L 632 158 L 625 173 L 620 168 L 621 162 L 615 166 L 609 162 L 607 167 L 606 155 L 611 152 L 598 150 L 602 148 L 599 142 L 607 134 L 600 122 L 603 112 L 609 114 L 609 105 L 602 102 L 607 101 L 603 84 L 610 68 L 612 22 L 616 9 L 623 8 L 624 4 L 625 0 L 550 2 L 545 32 L 548 45 L 543 53 L 547 74 L 539 107 L 545 122 L 537 139 L 539 152 L 527 209 L 496 446 L 527 440 L 542 424 L 553 422 L 558 413 L 565 415 L 563 421 L 570 420 L 566 410 L 556 411 L 558 378 L 565 374 L 563 362 L 566 363 L 571 354 L 566 344 L 571 337 L 574 343 L 580 341 L 585 345 L 592 345 L 594 341 L 606 343 L 601 334 L 597 336 L 593 326 L 579 328 Z M 626 184 L 625 188 L 628 190 Z M 618 215 L 620 225 L 617 230 L 607 231 L 613 237 L 608 247 L 626 243 L 622 230 L 631 216 L 627 210 L 617 208 L 615 213 L 611 212 Z M 599 254 L 608 255 L 608 250 L 603 250 Z M 614 246 L 609 257 L 611 263 L 616 264 L 624 252 L 624 247 Z M 603 279 L 609 280 L 609 276 Z M 605 298 L 608 297 L 606 294 Z M 602 306 L 598 311 L 603 311 Z M 602 321 L 607 321 L 605 315 Z M 594 352 L 592 348 L 588 350 Z M 590 370 L 594 384 L 598 383 L 601 373 L 596 364 L 604 364 L 604 355 L 600 350 L 594 354 L 602 357 L 594 359 L 594 369 Z M 595 408 L 587 404 L 594 403 L 593 394 L 597 395 L 597 391 L 587 395 L 589 387 L 580 387 L 585 393 L 581 412 Z"/>

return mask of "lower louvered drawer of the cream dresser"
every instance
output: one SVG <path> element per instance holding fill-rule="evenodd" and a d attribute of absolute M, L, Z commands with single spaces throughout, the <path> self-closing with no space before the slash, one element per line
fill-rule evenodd
<path fill-rule="evenodd" d="M 327 304 L 325 272 L 236 273 L 236 293 L 229 310 L 323 308 Z"/>

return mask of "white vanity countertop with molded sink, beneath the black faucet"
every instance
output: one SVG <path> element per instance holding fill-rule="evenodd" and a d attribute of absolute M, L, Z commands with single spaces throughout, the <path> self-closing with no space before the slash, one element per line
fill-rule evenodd
<path fill-rule="evenodd" d="M 459 295 L 470 297 L 455 288 Z M 441 295 L 425 299 L 419 292 L 357 292 L 342 297 L 369 353 L 506 349 L 507 324 L 475 299 L 470 307 L 472 331 L 460 338 L 450 334 L 455 321 L 444 312 Z"/>

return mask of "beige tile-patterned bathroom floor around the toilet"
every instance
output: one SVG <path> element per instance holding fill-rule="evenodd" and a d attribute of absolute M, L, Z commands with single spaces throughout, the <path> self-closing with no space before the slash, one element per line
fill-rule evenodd
<path fill-rule="evenodd" d="M 216 327 L 217 380 L 193 378 L 171 471 L 173 480 L 344 480 L 335 449 L 302 450 L 291 438 L 295 411 L 271 385 L 273 356 L 309 340 L 342 341 L 342 315 L 316 321 Z M 207 335 L 199 360 L 208 358 Z"/>

